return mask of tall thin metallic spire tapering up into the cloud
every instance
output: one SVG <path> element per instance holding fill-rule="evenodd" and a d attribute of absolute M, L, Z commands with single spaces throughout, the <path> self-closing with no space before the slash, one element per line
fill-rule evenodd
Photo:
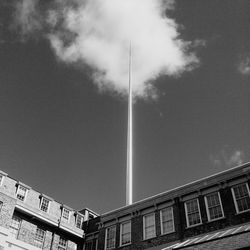
<path fill-rule="evenodd" d="M 132 48 L 129 46 L 129 86 L 128 86 L 128 134 L 127 134 L 127 178 L 126 205 L 133 202 L 133 91 L 131 82 Z"/>

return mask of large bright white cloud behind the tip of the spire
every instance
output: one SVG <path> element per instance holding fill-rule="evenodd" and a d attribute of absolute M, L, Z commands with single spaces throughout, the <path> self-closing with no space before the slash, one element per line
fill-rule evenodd
<path fill-rule="evenodd" d="M 191 50 L 203 43 L 181 39 L 179 25 L 166 15 L 174 10 L 173 0 L 55 0 L 39 11 L 38 5 L 38 0 L 17 5 L 23 33 L 40 29 L 43 20 L 57 58 L 89 65 L 101 90 L 127 92 L 130 43 L 138 97 L 154 96 L 153 80 L 159 75 L 176 77 L 199 65 Z"/>

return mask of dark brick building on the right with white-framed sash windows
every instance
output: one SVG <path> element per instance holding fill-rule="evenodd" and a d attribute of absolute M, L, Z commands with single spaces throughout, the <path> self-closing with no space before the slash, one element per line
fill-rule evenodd
<path fill-rule="evenodd" d="M 250 249 L 250 163 L 84 223 L 85 249 Z"/>

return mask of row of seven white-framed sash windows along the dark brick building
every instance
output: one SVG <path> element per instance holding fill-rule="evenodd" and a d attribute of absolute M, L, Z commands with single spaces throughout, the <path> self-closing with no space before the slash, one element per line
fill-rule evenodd
<path fill-rule="evenodd" d="M 237 213 L 250 210 L 250 192 L 247 183 L 232 187 L 232 195 Z M 208 221 L 224 218 L 224 211 L 221 203 L 220 193 L 214 192 L 205 195 L 206 212 Z M 197 226 L 202 223 L 198 198 L 188 200 L 184 203 L 187 227 Z M 173 208 L 166 207 L 160 210 L 161 234 L 168 234 L 175 231 Z M 150 239 L 156 236 L 155 213 L 143 216 L 143 239 Z M 105 249 L 115 248 L 116 225 L 106 228 Z M 131 243 L 131 221 L 120 224 L 120 246 Z"/>

